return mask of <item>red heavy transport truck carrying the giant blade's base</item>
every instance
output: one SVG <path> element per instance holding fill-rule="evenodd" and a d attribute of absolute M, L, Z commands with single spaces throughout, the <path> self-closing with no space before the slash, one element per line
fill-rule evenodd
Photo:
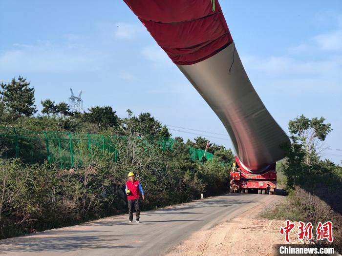
<path fill-rule="evenodd" d="M 276 194 L 277 172 L 276 163 L 270 164 L 259 172 L 250 172 L 244 168 L 239 158 L 235 157 L 237 171 L 230 173 L 231 193 L 251 193 L 257 191 L 258 194 Z"/>

